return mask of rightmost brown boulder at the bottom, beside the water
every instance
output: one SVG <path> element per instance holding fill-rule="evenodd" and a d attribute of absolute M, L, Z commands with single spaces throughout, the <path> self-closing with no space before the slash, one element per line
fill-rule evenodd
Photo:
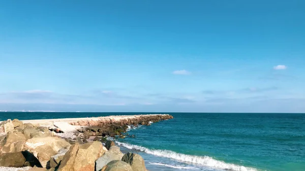
<path fill-rule="evenodd" d="M 134 171 L 146 171 L 144 159 L 139 154 L 127 153 L 122 161 L 129 163 Z"/>

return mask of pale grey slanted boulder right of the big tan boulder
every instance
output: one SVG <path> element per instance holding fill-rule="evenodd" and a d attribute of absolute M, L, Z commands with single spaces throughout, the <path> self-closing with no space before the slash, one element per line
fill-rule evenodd
<path fill-rule="evenodd" d="M 101 170 L 112 160 L 121 160 L 124 154 L 119 150 L 119 147 L 112 146 L 105 154 L 96 161 L 96 170 Z"/>

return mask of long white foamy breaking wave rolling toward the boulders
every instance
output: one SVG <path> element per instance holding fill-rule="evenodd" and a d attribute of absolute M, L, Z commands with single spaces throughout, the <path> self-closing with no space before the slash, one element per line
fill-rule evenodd
<path fill-rule="evenodd" d="M 195 155 L 187 155 L 187 154 L 180 154 L 169 150 L 150 150 L 145 147 L 131 145 L 127 143 L 120 143 L 116 142 L 118 145 L 123 146 L 128 149 L 138 150 L 141 152 L 145 152 L 147 154 L 152 154 L 159 157 L 166 157 L 175 159 L 177 161 L 181 162 L 189 162 L 189 163 L 196 163 L 196 164 L 202 164 L 209 167 L 215 167 L 215 168 L 221 168 L 226 170 L 234 170 L 234 171 L 259 171 L 256 168 L 252 167 L 246 167 L 231 163 L 226 163 L 224 161 L 216 160 L 212 157 L 208 156 L 195 156 Z"/>

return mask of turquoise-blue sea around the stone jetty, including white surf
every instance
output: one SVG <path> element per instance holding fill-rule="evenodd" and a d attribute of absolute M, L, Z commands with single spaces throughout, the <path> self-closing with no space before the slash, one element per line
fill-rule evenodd
<path fill-rule="evenodd" d="M 0 120 L 138 114 L 147 113 L 2 112 Z M 168 114 L 174 119 L 129 127 L 117 146 L 140 154 L 150 171 L 305 170 L 305 114 Z"/>

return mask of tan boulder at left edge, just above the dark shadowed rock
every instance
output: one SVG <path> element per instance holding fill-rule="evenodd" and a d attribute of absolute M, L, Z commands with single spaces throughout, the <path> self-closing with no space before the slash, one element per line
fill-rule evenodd
<path fill-rule="evenodd" d="M 23 133 L 13 130 L 8 132 L 0 144 L 0 153 L 15 153 L 23 150 L 26 141 Z"/>

